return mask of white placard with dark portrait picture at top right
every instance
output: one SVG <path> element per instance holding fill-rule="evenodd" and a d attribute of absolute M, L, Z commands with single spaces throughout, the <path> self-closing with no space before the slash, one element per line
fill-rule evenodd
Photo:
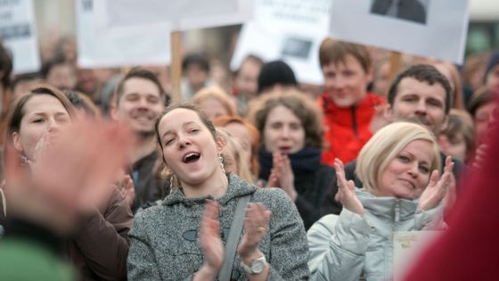
<path fill-rule="evenodd" d="M 384 2 L 334 0 L 331 37 L 462 64 L 469 0 L 400 0 L 405 12 Z"/>

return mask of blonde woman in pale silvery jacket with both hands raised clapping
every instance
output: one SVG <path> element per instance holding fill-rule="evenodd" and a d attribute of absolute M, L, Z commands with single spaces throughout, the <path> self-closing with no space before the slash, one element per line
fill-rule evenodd
<path fill-rule="evenodd" d="M 447 157 L 439 178 L 438 151 L 426 128 L 398 122 L 380 129 L 360 152 L 356 173 L 364 189 L 347 181 L 336 161 L 343 211 L 308 230 L 313 280 L 391 280 L 393 232 L 444 227 L 442 200 L 453 163 Z"/>

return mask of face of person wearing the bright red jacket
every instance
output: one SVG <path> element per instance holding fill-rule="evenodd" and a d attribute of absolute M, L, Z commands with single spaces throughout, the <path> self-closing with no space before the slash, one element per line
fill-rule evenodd
<path fill-rule="evenodd" d="M 366 73 L 356 57 L 348 54 L 344 62 L 323 66 L 324 86 L 339 107 L 349 107 L 364 99 L 372 73 Z"/>

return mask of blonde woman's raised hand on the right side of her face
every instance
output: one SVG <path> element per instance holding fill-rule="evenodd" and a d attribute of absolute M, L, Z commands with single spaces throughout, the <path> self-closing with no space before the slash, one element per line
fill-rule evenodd
<path fill-rule="evenodd" d="M 447 189 L 452 183 L 452 170 L 454 168 L 454 162 L 450 156 L 446 158 L 446 166 L 444 167 L 444 174 L 441 178 L 438 177 L 438 170 L 434 170 L 429 177 L 429 184 L 421 194 L 418 207 L 427 211 L 429 209 L 435 208 L 438 203 L 447 194 Z"/>

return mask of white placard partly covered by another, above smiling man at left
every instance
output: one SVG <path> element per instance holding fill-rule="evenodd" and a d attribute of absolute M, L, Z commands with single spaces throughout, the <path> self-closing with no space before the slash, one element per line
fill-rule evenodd
<path fill-rule="evenodd" d="M 83 68 L 168 64 L 170 33 L 166 24 L 102 29 L 94 0 L 77 1 L 78 65 Z"/>

